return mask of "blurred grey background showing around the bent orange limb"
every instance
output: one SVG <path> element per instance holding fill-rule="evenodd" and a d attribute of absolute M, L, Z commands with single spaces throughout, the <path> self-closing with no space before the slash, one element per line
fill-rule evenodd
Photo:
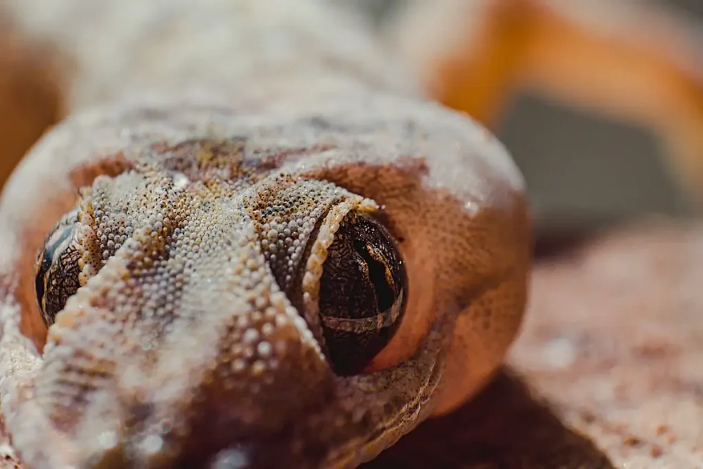
<path fill-rule="evenodd" d="M 407 2 L 356 3 L 383 27 Z M 703 36 L 703 1 L 639 3 L 673 8 L 691 20 L 688 25 L 699 22 Z M 703 41 L 700 44 L 698 57 L 703 61 Z M 522 90 L 508 103 L 494 131 L 522 169 L 532 207 L 547 226 L 571 230 L 697 213 L 667 167 L 666 148 L 652 129 Z"/>

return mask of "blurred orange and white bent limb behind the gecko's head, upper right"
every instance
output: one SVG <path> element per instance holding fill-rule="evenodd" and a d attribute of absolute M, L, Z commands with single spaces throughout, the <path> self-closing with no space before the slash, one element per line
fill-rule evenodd
<path fill-rule="evenodd" d="M 532 89 L 647 127 L 703 205 L 701 25 L 632 0 L 415 1 L 402 15 L 394 45 L 438 101 L 495 129 Z"/>

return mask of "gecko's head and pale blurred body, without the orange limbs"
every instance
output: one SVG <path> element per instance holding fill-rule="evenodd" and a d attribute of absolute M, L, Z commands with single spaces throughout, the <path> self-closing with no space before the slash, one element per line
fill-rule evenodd
<path fill-rule="evenodd" d="M 105 11 L 142 5 L 120 3 Z M 502 363 L 527 302 L 524 181 L 328 4 L 221 6 L 250 52 L 210 49 L 217 70 L 188 47 L 217 27 L 170 5 L 134 23 L 168 47 L 124 57 L 109 44 L 129 28 L 96 37 L 111 66 L 84 68 L 93 86 L 77 80 L 69 117 L 3 189 L 12 454 L 37 469 L 354 468 Z M 82 24 L 67 42 L 88 53 L 101 23 Z"/>

